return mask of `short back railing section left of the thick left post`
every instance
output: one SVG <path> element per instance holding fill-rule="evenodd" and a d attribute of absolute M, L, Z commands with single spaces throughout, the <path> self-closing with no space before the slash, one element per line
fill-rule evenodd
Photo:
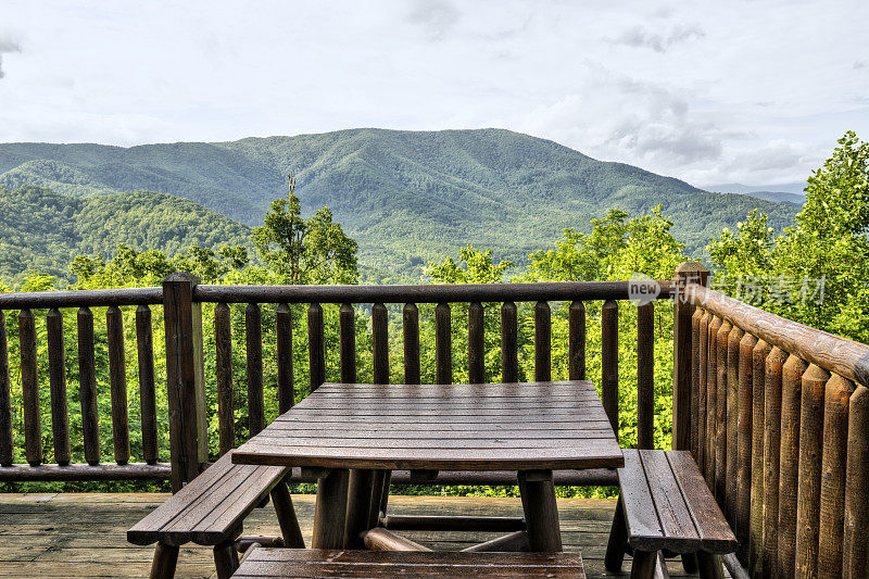
<path fill-rule="evenodd" d="M 0 294 L 0 480 L 111 480 L 168 478 L 171 466 L 159 463 L 158 419 L 151 309 L 163 298 L 161 288 L 50 291 Z M 119 306 L 136 310 L 142 452 L 130 462 L 124 322 Z M 73 310 L 77 307 L 76 310 Z M 95 314 L 105 307 L 106 357 L 111 412 L 97 405 Z M 42 314 L 45 312 L 45 314 Z M 25 464 L 15 465 L 7 316 L 16 315 L 21 364 Z M 45 315 L 49 407 L 53 465 L 42 446 L 42 397 L 38 372 L 37 316 Z M 64 318 L 74 316 L 77 333 L 78 398 L 85 463 L 71 464 L 70 408 L 66 383 Z M 68 319 L 68 318 L 67 318 Z M 41 320 L 40 320 L 41 322 Z M 112 426 L 114 464 L 101 464 L 100 420 Z"/>

